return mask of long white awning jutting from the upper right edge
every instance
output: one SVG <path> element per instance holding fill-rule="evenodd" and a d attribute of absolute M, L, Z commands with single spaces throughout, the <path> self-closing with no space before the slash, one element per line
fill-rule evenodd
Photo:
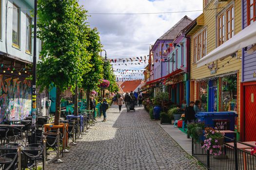
<path fill-rule="evenodd" d="M 228 41 L 197 61 L 197 68 L 217 59 L 222 60 L 234 52 L 252 44 L 256 44 L 256 22 L 253 22 L 251 25 L 247 26 L 238 34 L 234 35 Z"/>

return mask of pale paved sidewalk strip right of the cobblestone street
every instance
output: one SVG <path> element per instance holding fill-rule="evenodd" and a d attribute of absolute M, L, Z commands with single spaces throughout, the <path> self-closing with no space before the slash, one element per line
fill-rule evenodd
<path fill-rule="evenodd" d="M 170 135 L 177 144 L 188 154 L 192 155 L 192 141 L 191 138 L 187 138 L 187 135 L 181 132 L 177 127 L 174 127 L 173 124 L 160 124 L 160 121 L 157 122 L 158 125 Z"/>

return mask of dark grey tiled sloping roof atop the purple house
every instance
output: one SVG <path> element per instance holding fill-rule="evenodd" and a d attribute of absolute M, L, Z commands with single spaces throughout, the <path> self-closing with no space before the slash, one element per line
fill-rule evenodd
<path fill-rule="evenodd" d="M 158 40 L 174 40 L 177 35 L 193 20 L 187 16 L 180 19 L 170 30 L 164 33 Z"/>

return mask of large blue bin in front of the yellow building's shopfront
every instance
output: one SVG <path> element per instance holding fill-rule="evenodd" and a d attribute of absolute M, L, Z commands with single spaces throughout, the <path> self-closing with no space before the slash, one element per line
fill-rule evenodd
<path fill-rule="evenodd" d="M 219 130 L 235 131 L 235 112 L 198 112 L 196 118 L 198 122 L 204 123 L 206 127 Z M 235 134 L 226 134 L 229 138 L 234 138 Z"/>

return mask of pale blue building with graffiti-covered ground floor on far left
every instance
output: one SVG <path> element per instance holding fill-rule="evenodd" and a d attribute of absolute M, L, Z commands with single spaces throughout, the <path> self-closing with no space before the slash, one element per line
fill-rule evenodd
<path fill-rule="evenodd" d="M 34 0 L 0 0 L 0 122 L 31 113 L 33 8 Z"/>

